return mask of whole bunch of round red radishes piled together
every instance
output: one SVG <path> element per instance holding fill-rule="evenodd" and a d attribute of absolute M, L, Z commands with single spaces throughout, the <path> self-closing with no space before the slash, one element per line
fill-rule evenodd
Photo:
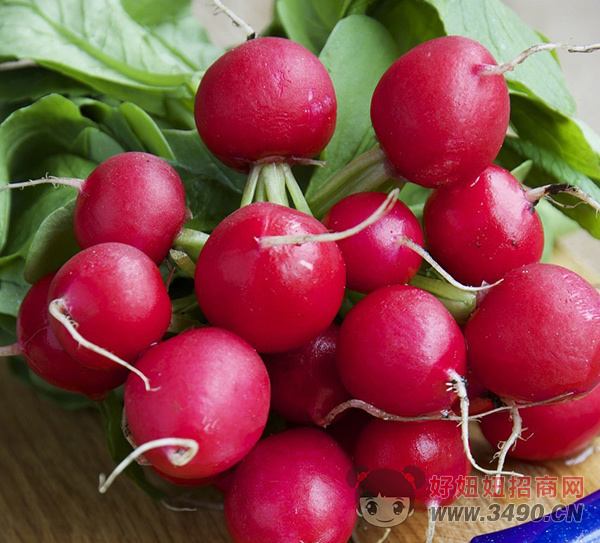
<path fill-rule="evenodd" d="M 600 430 L 600 294 L 539 263 L 535 205 L 555 189 L 526 190 L 493 164 L 509 122 L 507 69 L 450 36 L 381 78 L 371 157 L 399 188 L 433 188 L 421 226 L 398 189 L 332 197 L 335 178 L 320 189 L 335 205 L 311 211 L 291 166 L 312 164 L 333 135 L 333 85 L 302 46 L 248 40 L 207 70 L 196 96 L 208 149 L 248 172 L 240 209 L 194 262 L 203 320 L 172 326 L 158 267 L 180 247 L 181 181 L 165 161 L 125 153 L 63 181 L 80 191 L 82 251 L 31 288 L 18 343 L 1 352 L 94 400 L 125 383 L 127 460 L 175 484 L 220 481 L 236 543 L 345 543 L 357 509 L 375 514 L 357 503 L 354 466 L 419 468 L 410 514 L 451 503 L 431 497 L 429 480 L 479 467 L 470 416 L 503 443 L 485 473 L 504 473 L 507 454 L 580 452 Z M 424 259 L 455 286 L 437 283 L 478 293 L 466 324 L 420 288 Z M 493 414 L 469 410 L 485 398 Z M 270 409 L 291 429 L 261 439 Z M 404 492 L 370 484 L 374 495 Z"/>

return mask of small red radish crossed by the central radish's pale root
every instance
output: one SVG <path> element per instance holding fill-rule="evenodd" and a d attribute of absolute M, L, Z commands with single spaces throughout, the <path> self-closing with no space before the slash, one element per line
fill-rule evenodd
<path fill-rule="evenodd" d="M 333 232 L 348 230 L 371 216 L 385 199 L 386 195 L 379 192 L 347 196 L 329 210 L 323 224 Z M 400 236 L 423 245 L 419 221 L 408 206 L 397 200 L 377 222 L 338 241 L 346 264 L 347 287 L 368 293 L 380 287 L 408 283 L 419 270 L 422 259 L 398 244 Z"/>

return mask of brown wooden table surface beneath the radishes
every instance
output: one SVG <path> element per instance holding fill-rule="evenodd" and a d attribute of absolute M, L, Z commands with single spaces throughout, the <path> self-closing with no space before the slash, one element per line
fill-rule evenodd
<path fill-rule="evenodd" d="M 563 239 L 555 259 L 600 283 L 600 251 L 581 233 Z M 0 543 L 229 542 L 219 511 L 173 512 L 153 502 L 125 476 L 107 494 L 97 491 L 98 475 L 114 464 L 95 410 L 66 411 L 38 396 L 0 366 Z M 557 436 L 558 437 L 558 436 Z M 490 449 L 476 447 L 483 464 Z M 600 488 L 600 457 L 568 467 L 564 461 L 537 465 L 509 462 L 528 475 L 585 477 L 586 494 Z M 480 487 L 481 488 L 481 487 Z M 560 498 L 560 494 L 559 494 Z M 504 500 L 501 503 L 510 503 Z M 514 500 L 513 500 L 514 501 Z M 539 501 L 549 511 L 556 500 Z M 573 498 L 566 500 L 573 501 Z M 481 505 L 489 498 L 462 498 L 457 505 Z M 420 542 L 427 518 L 416 513 L 390 535 L 390 543 Z M 473 536 L 515 525 L 440 522 L 436 541 L 469 541 Z M 361 543 L 374 543 L 382 532 L 358 530 Z M 282 542 L 285 543 L 285 542 Z"/>

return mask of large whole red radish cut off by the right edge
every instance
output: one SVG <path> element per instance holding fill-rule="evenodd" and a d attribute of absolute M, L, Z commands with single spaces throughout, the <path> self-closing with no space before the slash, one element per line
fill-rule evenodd
<path fill-rule="evenodd" d="M 465 339 L 475 378 L 502 398 L 585 394 L 600 382 L 600 294 L 560 266 L 522 266 L 488 292 Z"/>

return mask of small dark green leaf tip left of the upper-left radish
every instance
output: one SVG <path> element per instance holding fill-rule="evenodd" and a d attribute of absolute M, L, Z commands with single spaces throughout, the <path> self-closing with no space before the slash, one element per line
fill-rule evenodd
<path fill-rule="evenodd" d="M 69 201 L 46 217 L 36 232 L 25 259 L 25 280 L 36 283 L 57 271 L 80 249 L 73 230 L 75 200 Z"/>

